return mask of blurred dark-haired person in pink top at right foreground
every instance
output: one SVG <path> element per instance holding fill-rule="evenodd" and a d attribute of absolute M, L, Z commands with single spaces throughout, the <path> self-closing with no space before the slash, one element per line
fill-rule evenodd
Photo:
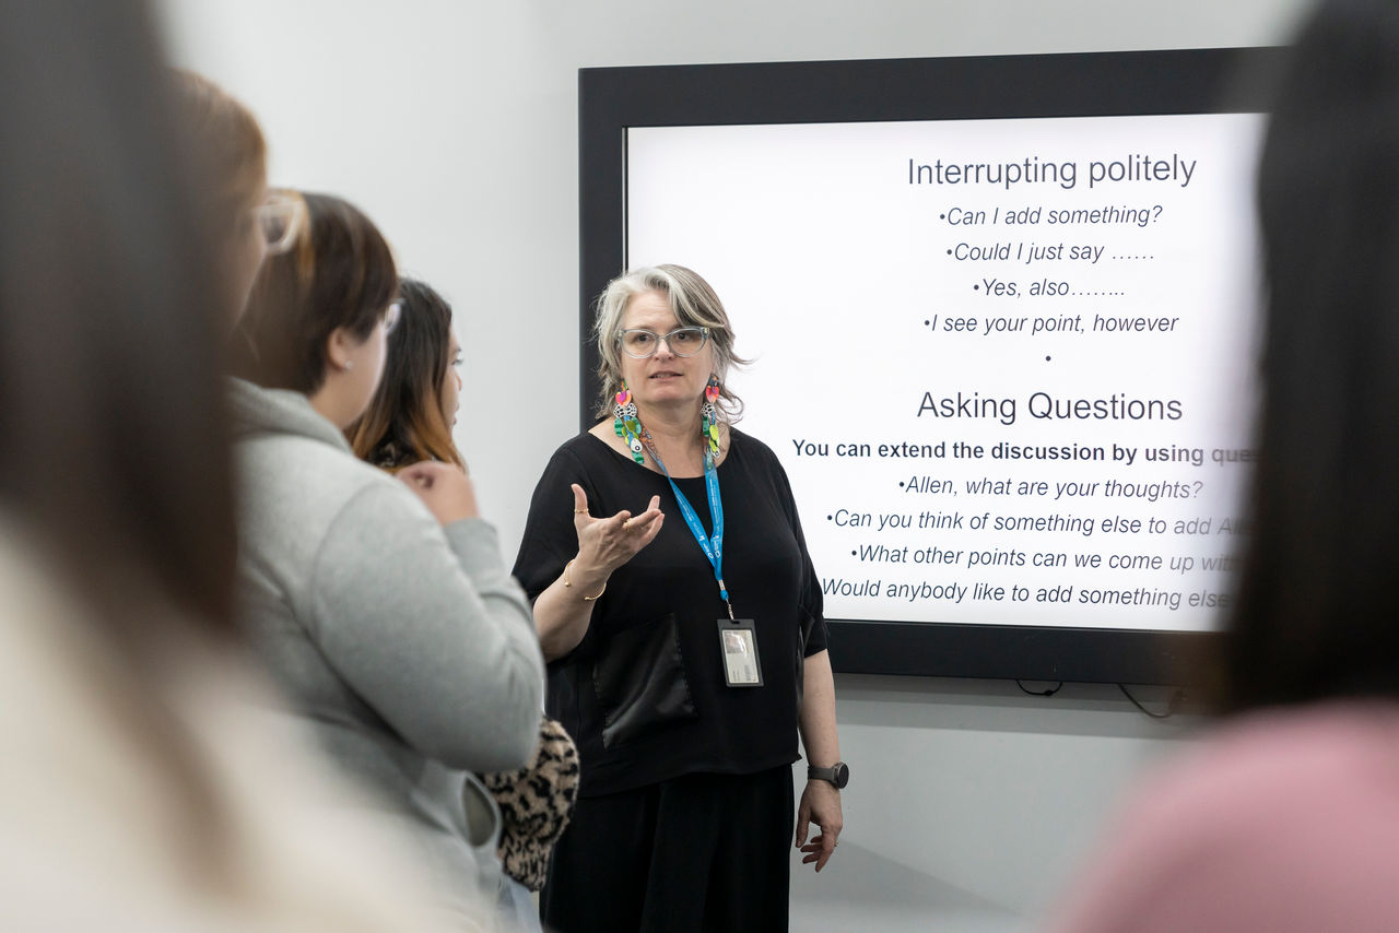
<path fill-rule="evenodd" d="M 1136 795 L 1056 930 L 1399 923 L 1399 3 L 1322 4 L 1279 91 L 1228 716 Z"/>

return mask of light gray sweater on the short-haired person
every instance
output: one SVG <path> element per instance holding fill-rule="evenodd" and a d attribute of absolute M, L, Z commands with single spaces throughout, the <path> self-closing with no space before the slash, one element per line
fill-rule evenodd
<path fill-rule="evenodd" d="M 463 772 L 519 767 L 543 705 L 495 530 L 443 529 L 302 394 L 235 379 L 229 397 L 239 607 L 259 652 L 333 758 L 421 831 L 439 880 L 481 877 Z"/>

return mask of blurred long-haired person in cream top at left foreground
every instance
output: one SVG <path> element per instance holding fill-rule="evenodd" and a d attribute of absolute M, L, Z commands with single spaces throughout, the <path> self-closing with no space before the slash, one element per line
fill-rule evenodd
<path fill-rule="evenodd" d="M 0 91 L 0 929 L 442 929 L 232 621 L 239 274 L 147 10 L 13 4 Z"/>

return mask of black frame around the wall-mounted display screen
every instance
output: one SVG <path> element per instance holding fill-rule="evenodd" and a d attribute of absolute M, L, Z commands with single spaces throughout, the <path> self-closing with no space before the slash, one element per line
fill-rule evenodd
<path fill-rule="evenodd" d="M 592 302 L 627 262 L 639 126 L 1259 113 L 1281 49 L 873 59 L 579 70 L 579 424 L 599 393 Z M 1186 684 L 1217 632 L 827 620 L 837 671 Z"/>

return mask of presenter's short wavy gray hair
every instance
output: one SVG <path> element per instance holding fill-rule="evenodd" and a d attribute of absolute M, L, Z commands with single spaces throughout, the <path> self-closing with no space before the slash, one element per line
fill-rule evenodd
<path fill-rule="evenodd" d="M 621 392 L 621 318 L 627 305 L 637 295 L 659 292 L 666 297 L 670 311 L 681 327 L 708 327 L 709 343 L 713 344 L 713 375 L 719 379 L 719 408 L 723 420 L 734 422 L 743 413 L 743 400 L 729 390 L 730 366 L 747 365 L 747 359 L 733 352 L 733 330 L 729 315 L 719 295 L 698 273 L 684 266 L 646 266 L 623 273 L 607 283 L 597 297 L 597 319 L 593 337 L 597 340 L 597 380 L 602 383 L 602 397 L 597 403 L 597 417 L 611 415 L 613 396 Z"/>

